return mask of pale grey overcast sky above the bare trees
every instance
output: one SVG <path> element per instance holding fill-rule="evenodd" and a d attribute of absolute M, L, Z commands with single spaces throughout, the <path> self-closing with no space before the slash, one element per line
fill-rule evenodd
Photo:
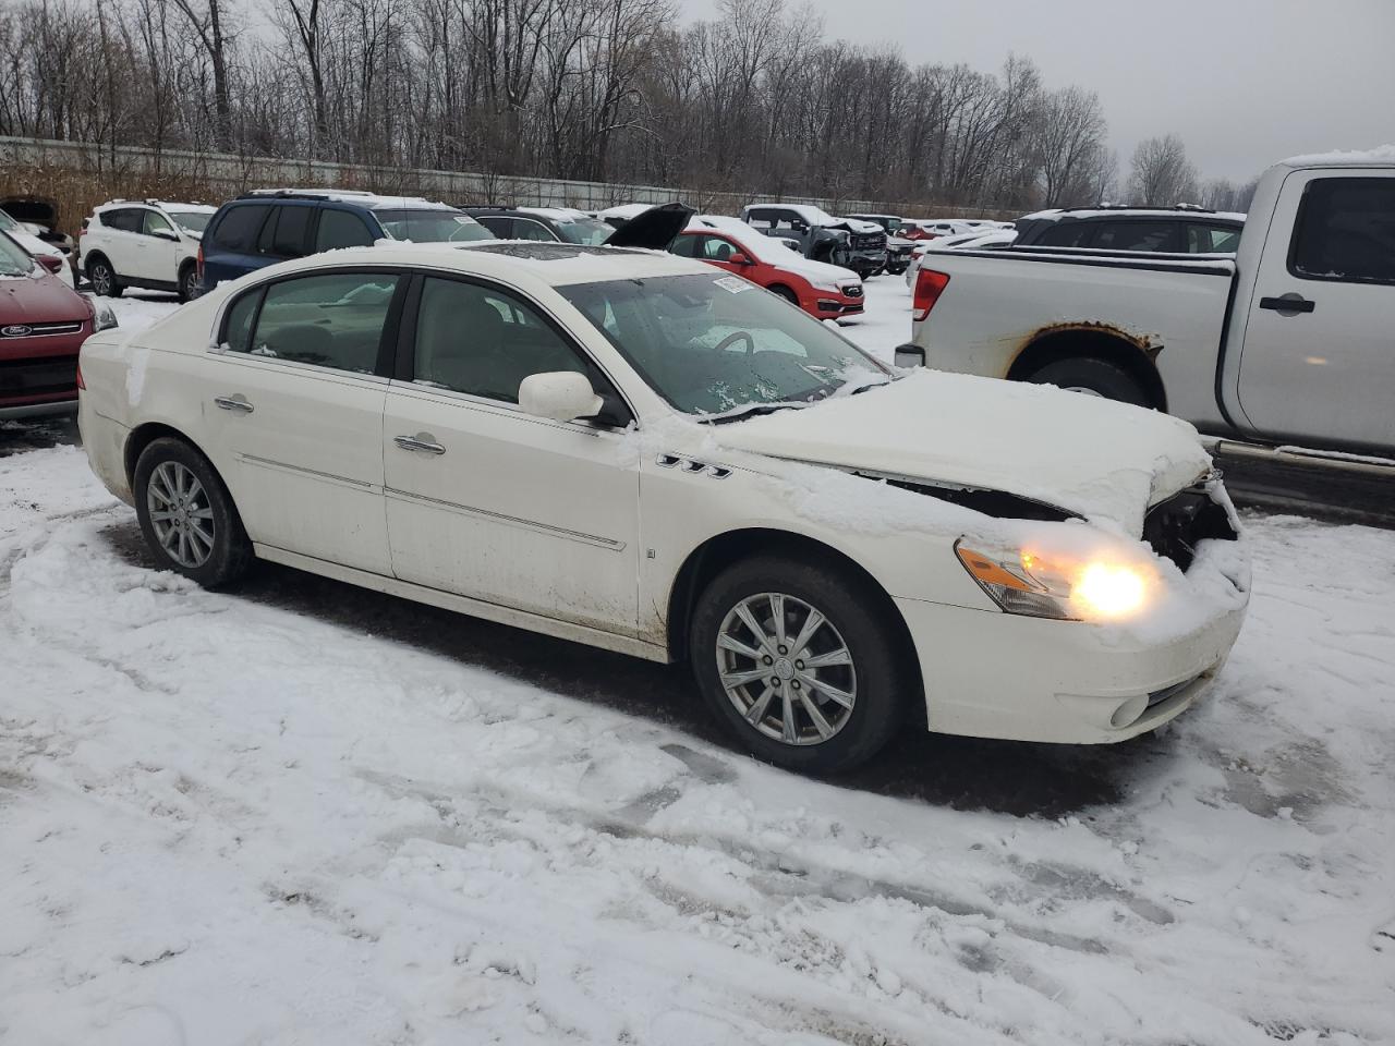
<path fill-rule="evenodd" d="M 787 0 L 794 7 L 798 0 Z M 678 0 L 689 20 L 716 0 Z M 1395 0 L 809 0 L 824 36 L 912 64 L 997 70 L 1099 92 L 1120 169 L 1168 131 L 1204 177 L 1246 181 L 1302 152 L 1395 142 Z"/>

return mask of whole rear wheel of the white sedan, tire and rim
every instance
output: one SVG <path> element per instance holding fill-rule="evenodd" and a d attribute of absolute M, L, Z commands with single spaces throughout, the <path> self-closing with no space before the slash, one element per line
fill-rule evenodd
<path fill-rule="evenodd" d="M 239 580 L 252 544 L 212 463 L 183 439 L 162 437 L 135 462 L 135 515 L 156 562 L 205 589 Z"/>

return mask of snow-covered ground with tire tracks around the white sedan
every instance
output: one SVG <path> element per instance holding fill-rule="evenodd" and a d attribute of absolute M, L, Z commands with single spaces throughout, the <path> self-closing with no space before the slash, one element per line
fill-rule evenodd
<path fill-rule="evenodd" d="M 904 286 L 869 303 L 889 356 Z M 201 591 L 80 450 L 3 457 L 0 1040 L 1395 1042 L 1395 533 L 1246 522 L 1201 706 L 1103 752 L 910 746 L 887 780 L 956 763 L 950 803 L 615 710 L 611 655 L 537 685 L 438 611 Z M 1109 794 L 1062 809 L 1074 774 Z"/>

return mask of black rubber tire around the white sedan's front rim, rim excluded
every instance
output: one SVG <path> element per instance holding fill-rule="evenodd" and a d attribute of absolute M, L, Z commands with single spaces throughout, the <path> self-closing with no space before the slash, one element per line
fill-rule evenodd
<path fill-rule="evenodd" d="M 823 649 L 829 649 L 833 640 L 840 640 L 851 657 L 850 669 L 817 669 L 820 672 L 855 672 L 852 682 L 852 707 L 847 713 L 827 699 L 820 706 L 830 715 L 845 715 L 838 722 L 836 732 L 824 741 L 813 739 L 813 743 L 795 745 L 769 736 L 752 725 L 748 718 L 737 710 L 732 697 L 728 697 L 727 688 L 721 681 L 718 657 L 732 657 L 724 654 L 717 646 L 723 632 L 723 625 L 728 615 L 735 615 L 735 608 L 744 600 L 756 598 L 756 604 L 767 605 L 767 600 L 760 600 L 763 594 L 777 593 L 787 600 L 792 597 L 805 607 L 816 608 L 831 626 L 831 632 L 820 633 L 824 637 Z M 915 690 L 915 674 L 908 668 L 910 651 L 903 650 L 903 642 L 889 615 L 894 609 L 883 593 L 880 593 L 865 577 L 852 570 L 836 565 L 813 565 L 797 558 L 778 555 L 760 555 L 744 559 L 728 566 L 698 597 L 693 608 L 692 625 L 689 630 L 689 655 L 692 660 L 693 676 L 698 688 L 713 714 L 739 739 L 741 745 L 752 752 L 757 759 L 783 766 L 801 773 L 830 774 L 851 770 L 872 759 L 904 725 L 904 710 Z M 794 632 L 802 626 L 801 609 L 791 605 L 787 614 L 787 629 Z M 773 614 L 766 615 L 766 621 L 773 622 Z M 749 630 L 745 635 L 751 635 Z M 791 635 L 792 640 L 794 636 Z M 753 644 L 752 644 L 753 646 Z M 815 643 L 810 643 L 810 650 Z M 794 657 L 794 650 L 788 650 Z M 741 655 L 737 655 L 741 657 Z M 778 650 L 771 653 L 771 658 L 778 657 Z M 744 658 L 749 660 L 749 658 Z M 781 665 L 780 662 L 784 662 Z M 794 668 L 804 662 L 790 662 L 787 657 L 771 661 L 771 674 Z M 755 671 L 766 671 L 762 662 L 751 661 Z M 799 679 L 808 678 L 805 674 L 794 679 L 784 681 L 784 690 L 767 688 L 764 679 L 751 686 L 759 686 L 763 693 L 771 689 L 773 696 L 767 707 L 783 708 L 783 695 L 790 693 L 794 699 Z M 829 676 L 824 675 L 827 679 Z M 837 675 L 831 682 L 841 682 L 847 686 L 850 676 Z M 812 690 L 817 693 L 817 690 Z M 735 700 L 749 699 L 752 704 L 759 702 L 755 689 L 735 690 Z M 804 690 L 810 693 L 809 689 Z M 817 699 L 815 699 L 817 702 Z M 748 704 L 746 707 L 752 707 Z M 797 715 L 815 729 L 813 720 L 792 702 Z M 774 715 L 776 713 L 766 713 Z M 780 715 L 783 721 L 783 715 Z M 760 720 L 767 728 L 774 728 L 764 717 Z M 831 724 L 831 720 L 830 720 Z"/>

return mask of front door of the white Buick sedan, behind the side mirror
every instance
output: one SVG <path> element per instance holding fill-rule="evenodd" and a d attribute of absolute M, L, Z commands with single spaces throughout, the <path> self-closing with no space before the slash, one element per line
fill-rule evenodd
<path fill-rule="evenodd" d="M 536 303 L 418 280 L 382 423 L 395 573 L 633 636 L 639 456 L 619 431 L 518 406 L 530 374 L 579 371 L 614 397 L 612 386 Z"/>

